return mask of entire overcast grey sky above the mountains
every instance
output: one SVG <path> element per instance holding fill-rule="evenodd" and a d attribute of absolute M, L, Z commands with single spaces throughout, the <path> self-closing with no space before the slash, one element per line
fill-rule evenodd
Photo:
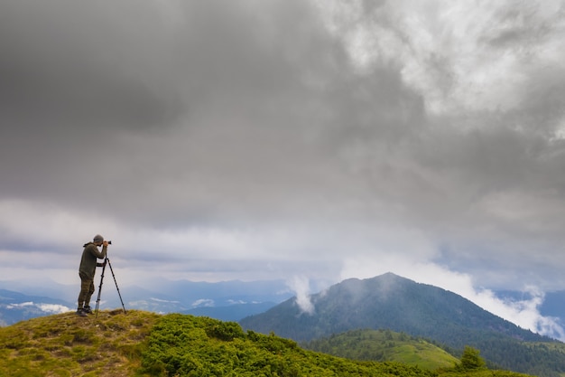
<path fill-rule="evenodd" d="M 527 326 L 485 289 L 565 289 L 564 40 L 550 0 L 3 0 L 0 277 L 100 233 L 131 282 L 392 271 Z"/>

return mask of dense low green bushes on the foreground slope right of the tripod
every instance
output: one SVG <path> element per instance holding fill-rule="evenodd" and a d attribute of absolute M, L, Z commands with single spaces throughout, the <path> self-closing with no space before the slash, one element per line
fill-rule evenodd
<path fill-rule="evenodd" d="M 147 338 L 142 373 L 153 376 L 405 376 L 435 377 L 401 363 L 354 362 L 302 350 L 273 334 L 244 333 L 236 323 L 163 316 Z"/>

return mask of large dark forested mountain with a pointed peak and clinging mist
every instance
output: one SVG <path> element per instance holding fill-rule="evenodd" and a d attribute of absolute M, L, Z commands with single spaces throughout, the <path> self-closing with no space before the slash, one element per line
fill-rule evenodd
<path fill-rule="evenodd" d="M 354 329 L 390 329 L 455 350 L 473 346 L 488 361 L 515 372 L 547 377 L 565 372 L 565 344 L 524 330 L 452 292 L 392 273 L 344 280 L 311 295 L 310 306 L 301 306 L 292 297 L 239 323 L 299 342 Z"/>

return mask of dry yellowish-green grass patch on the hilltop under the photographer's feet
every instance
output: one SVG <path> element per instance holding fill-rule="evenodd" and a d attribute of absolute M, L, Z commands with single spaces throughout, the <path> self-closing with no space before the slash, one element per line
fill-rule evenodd
<path fill-rule="evenodd" d="M 1 376 L 129 376 L 159 316 L 139 311 L 44 316 L 0 328 Z"/>

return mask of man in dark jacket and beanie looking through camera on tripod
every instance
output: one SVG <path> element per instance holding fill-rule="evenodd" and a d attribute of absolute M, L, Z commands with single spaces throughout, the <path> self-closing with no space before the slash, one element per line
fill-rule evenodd
<path fill-rule="evenodd" d="M 102 246 L 102 251 L 98 251 L 99 246 Z M 79 267 L 80 293 L 79 307 L 77 308 L 77 314 L 79 316 L 87 316 L 88 313 L 92 313 L 90 297 L 92 297 L 94 293 L 94 274 L 97 267 L 106 265 L 106 260 L 104 263 L 97 263 L 97 259 L 106 258 L 107 247 L 107 240 L 104 240 L 104 237 L 99 234 L 94 236 L 92 242 L 84 244 Z"/>

